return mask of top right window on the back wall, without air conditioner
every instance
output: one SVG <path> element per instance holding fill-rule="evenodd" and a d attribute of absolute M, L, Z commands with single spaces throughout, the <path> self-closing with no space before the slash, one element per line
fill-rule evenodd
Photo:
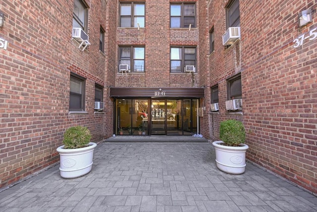
<path fill-rule="evenodd" d="M 172 3 L 170 4 L 170 27 L 189 28 L 196 27 L 195 3 Z"/>

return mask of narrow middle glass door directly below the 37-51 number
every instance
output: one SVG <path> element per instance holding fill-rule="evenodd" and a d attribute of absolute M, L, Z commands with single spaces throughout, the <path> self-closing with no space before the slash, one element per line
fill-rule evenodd
<path fill-rule="evenodd" d="M 166 100 L 151 100 L 152 135 L 166 135 Z"/>

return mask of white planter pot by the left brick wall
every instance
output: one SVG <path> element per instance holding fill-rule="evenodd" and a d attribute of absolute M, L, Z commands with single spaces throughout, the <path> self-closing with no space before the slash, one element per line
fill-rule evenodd
<path fill-rule="evenodd" d="M 91 171 L 96 143 L 90 142 L 88 147 L 78 149 L 57 148 L 60 157 L 60 176 L 63 178 L 76 178 Z"/>

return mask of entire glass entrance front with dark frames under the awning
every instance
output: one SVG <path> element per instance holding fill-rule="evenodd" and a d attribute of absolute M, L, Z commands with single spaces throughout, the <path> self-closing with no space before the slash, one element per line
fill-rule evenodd
<path fill-rule="evenodd" d="M 193 135 L 196 99 L 116 99 L 115 135 Z"/>

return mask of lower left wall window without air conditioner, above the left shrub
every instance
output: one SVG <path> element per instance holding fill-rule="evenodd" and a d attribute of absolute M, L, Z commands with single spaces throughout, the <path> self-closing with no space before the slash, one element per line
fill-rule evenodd
<path fill-rule="evenodd" d="M 69 110 L 85 110 L 85 78 L 70 75 Z"/>

